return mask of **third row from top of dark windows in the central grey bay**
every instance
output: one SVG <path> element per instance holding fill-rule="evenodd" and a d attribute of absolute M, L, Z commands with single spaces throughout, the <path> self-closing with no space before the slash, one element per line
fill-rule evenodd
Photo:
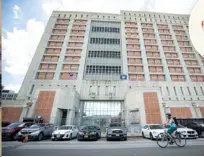
<path fill-rule="evenodd" d="M 120 51 L 89 51 L 90 58 L 120 58 Z"/>

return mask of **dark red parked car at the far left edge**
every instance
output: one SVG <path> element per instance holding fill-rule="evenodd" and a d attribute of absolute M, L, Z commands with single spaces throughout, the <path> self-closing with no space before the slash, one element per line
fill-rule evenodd
<path fill-rule="evenodd" d="M 2 128 L 2 140 L 15 140 L 18 132 L 25 128 L 29 127 L 33 123 L 23 123 L 23 122 L 15 122 L 9 124 L 7 127 Z"/>

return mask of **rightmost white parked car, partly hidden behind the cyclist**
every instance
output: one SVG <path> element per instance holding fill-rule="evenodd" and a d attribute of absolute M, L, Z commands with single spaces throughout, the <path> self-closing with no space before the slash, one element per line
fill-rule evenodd
<path fill-rule="evenodd" d="M 164 127 L 168 129 L 170 125 L 165 125 Z M 181 124 L 178 125 L 177 131 L 182 133 L 182 135 L 185 138 L 197 138 L 198 137 L 198 133 L 195 130 L 187 128 Z"/>

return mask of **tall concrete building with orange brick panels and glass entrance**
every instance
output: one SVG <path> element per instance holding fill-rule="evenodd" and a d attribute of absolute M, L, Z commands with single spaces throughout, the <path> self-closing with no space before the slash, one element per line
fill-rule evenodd
<path fill-rule="evenodd" d="M 136 132 L 164 122 L 166 112 L 204 117 L 204 58 L 190 42 L 188 20 L 54 11 L 17 97 L 24 102 L 20 120 L 41 115 L 55 125 L 102 130 L 122 121 Z"/>

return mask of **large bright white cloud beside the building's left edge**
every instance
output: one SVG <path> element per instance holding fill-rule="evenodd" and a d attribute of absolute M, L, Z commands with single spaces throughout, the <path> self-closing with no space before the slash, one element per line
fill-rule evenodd
<path fill-rule="evenodd" d="M 43 31 L 42 22 L 30 19 L 25 30 L 13 28 L 12 32 L 6 32 L 6 36 L 2 37 L 2 58 L 6 72 L 23 79 Z"/>

